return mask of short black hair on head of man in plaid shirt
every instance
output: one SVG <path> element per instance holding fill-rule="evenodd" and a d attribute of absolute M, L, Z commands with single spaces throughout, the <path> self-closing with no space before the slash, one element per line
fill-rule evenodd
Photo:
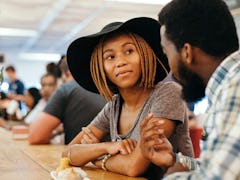
<path fill-rule="evenodd" d="M 158 18 L 178 50 L 189 43 L 211 56 L 225 58 L 239 48 L 233 17 L 222 0 L 173 0 Z"/>

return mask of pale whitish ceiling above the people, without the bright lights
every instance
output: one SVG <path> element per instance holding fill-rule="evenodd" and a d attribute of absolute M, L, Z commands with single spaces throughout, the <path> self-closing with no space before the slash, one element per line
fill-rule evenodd
<path fill-rule="evenodd" d="M 227 2 L 240 31 L 240 0 Z M 106 0 L 0 0 L 0 28 L 30 30 L 23 36 L 0 34 L 0 54 L 8 62 L 28 60 L 21 56 L 24 53 L 65 54 L 76 37 L 95 33 L 112 21 L 138 16 L 157 18 L 161 8 L 160 4 Z"/>

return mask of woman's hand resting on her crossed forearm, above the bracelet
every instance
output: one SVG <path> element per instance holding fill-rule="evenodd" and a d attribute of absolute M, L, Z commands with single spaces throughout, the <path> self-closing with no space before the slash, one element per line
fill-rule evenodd
<path fill-rule="evenodd" d="M 120 142 L 111 142 L 107 151 L 111 155 L 115 154 L 130 154 L 137 145 L 137 141 L 133 139 L 124 139 Z"/>

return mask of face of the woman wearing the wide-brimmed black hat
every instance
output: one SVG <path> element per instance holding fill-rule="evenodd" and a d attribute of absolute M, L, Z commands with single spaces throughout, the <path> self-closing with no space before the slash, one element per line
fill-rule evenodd
<path fill-rule="evenodd" d="M 105 41 L 103 65 L 107 77 L 119 90 L 137 85 L 141 76 L 140 56 L 130 36 L 116 35 Z"/>

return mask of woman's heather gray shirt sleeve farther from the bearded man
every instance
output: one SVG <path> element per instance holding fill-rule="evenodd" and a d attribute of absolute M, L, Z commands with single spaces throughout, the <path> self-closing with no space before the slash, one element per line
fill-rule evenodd
<path fill-rule="evenodd" d="M 91 122 L 92 125 L 107 133 L 110 132 L 110 106 L 111 103 L 108 102 Z"/>

